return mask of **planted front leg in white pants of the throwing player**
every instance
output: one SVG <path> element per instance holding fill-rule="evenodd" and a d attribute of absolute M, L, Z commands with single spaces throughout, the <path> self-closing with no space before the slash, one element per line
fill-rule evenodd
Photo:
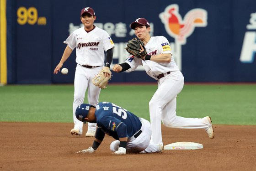
<path fill-rule="evenodd" d="M 151 141 L 155 144 L 162 142 L 161 134 L 161 114 L 163 107 L 175 98 L 183 88 L 183 76 L 180 72 L 171 73 L 161 78 L 158 89 L 149 102 L 149 114 L 151 123 Z"/>

